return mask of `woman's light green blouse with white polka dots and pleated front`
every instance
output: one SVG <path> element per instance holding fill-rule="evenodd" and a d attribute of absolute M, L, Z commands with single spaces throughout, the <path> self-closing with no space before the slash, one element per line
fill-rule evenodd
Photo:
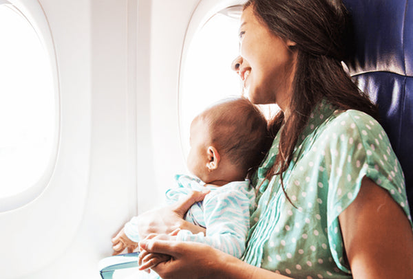
<path fill-rule="evenodd" d="M 260 187 L 244 261 L 293 278 L 352 278 L 338 216 L 369 177 L 390 192 L 412 224 L 399 161 L 380 124 L 366 113 L 340 111 L 326 101 L 311 113 L 293 160 L 265 180 L 277 155 L 274 139 L 253 183 Z"/>

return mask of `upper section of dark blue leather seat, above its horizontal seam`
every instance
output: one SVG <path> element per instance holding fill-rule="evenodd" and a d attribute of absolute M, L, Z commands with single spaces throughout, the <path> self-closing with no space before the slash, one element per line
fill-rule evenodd
<path fill-rule="evenodd" d="M 343 0 L 352 16 L 356 53 L 352 74 L 413 74 L 413 3 L 408 0 Z"/>

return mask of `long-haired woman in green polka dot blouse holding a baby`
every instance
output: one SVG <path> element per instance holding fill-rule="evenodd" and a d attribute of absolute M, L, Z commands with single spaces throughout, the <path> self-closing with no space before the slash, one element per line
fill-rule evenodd
<path fill-rule="evenodd" d="M 343 34 L 341 1 L 246 3 L 233 69 L 252 102 L 282 110 L 253 179 L 247 249 L 242 261 L 198 243 L 144 241 L 172 256 L 153 267 L 162 278 L 411 278 L 403 174 L 374 105 L 341 67 Z"/>

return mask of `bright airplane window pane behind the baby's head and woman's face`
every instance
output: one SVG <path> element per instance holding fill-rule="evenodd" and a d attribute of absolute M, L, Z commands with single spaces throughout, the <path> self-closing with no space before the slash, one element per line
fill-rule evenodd
<path fill-rule="evenodd" d="M 196 32 L 181 72 L 180 133 L 184 155 L 189 152 L 189 126 L 209 104 L 228 96 L 240 96 L 240 78 L 231 70 L 238 54 L 239 20 L 215 14 Z"/>

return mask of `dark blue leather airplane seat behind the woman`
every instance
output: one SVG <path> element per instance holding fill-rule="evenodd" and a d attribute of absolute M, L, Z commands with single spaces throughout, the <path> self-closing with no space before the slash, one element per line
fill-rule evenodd
<path fill-rule="evenodd" d="M 413 212 L 413 0 L 343 2 L 354 27 L 354 54 L 346 64 L 359 88 L 379 105 Z"/>

